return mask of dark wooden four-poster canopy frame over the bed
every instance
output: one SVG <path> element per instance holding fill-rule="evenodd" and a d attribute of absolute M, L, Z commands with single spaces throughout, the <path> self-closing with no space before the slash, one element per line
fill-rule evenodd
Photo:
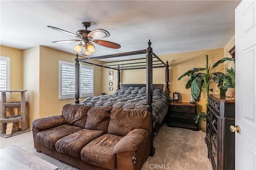
<path fill-rule="evenodd" d="M 129 56 L 129 55 L 139 55 L 139 54 L 147 54 L 146 57 L 143 58 L 132 58 L 132 59 L 122 59 L 118 61 L 106 61 L 106 62 L 100 62 L 100 63 L 92 63 L 90 61 L 93 60 L 99 60 L 99 59 L 106 59 L 106 58 L 114 58 L 114 57 L 123 57 L 123 56 Z M 118 64 L 117 62 L 124 62 L 124 61 L 136 61 L 136 60 L 142 60 L 146 59 L 146 61 L 143 62 L 134 62 L 134 63 L 122 63 Z M 153 59 L 155 59 L 153 61 Z M 131 70 L 131 69 L 146 69 L 146 102 L 147 102 L 147 110 L 152 113 L 152 101 L 153 101 L 153 81 L 152 81 L 152 73 L 153 68 L 162 68 L 165 67 L 165 90 L 164 92 L 168 95 L 169 94 L 169 65 L 168 61 L 164 63 L 154 52 L 151 47 L 150 40 L 148 41 L 148 48 L 139 50 L 139 51 L 130 51 L 126 53 L 117 53 L 112 55 L 102 55 L 98 57 L 90 57 L 90 58 L 78 58 L 78 53 L 76 53 L 75 58 L 75 103 L 79 104 L 79 97 L 80 97 L 80 63 L 86 63 L 90 65 L 96 65 L 108 69 L 114 69 L 117 70 L 117 90 L 120 89 L 120 71 L 121 70 Z M 160 63 L 159 63 L 160 62 Z M 112 64 L 110 64 L 112 63 Z M 146 63 L 146 64 L 145 64 Z M 154 63 L 154 64 L 153 64 Z M 109 65 L 110 64 L 110 65 Z M 122 65 L 122 66 L 120 66 Z M 142 86 L 140 84 L 140 86 Z M 159 84 L 156 85 L 157 87 L 161 87 Z M 162 90 L 162 88 L 161 88 Z M 153 122 L 152 122 L 153 123 Z M 152 126 L 153 127 L 153 126 Z M 152 130 L 151 132 L 151 153 L 150 156 L 154 156 L 155 148 L 153 146 L 153 138 L 154 138 L 154 132 Z"/>

